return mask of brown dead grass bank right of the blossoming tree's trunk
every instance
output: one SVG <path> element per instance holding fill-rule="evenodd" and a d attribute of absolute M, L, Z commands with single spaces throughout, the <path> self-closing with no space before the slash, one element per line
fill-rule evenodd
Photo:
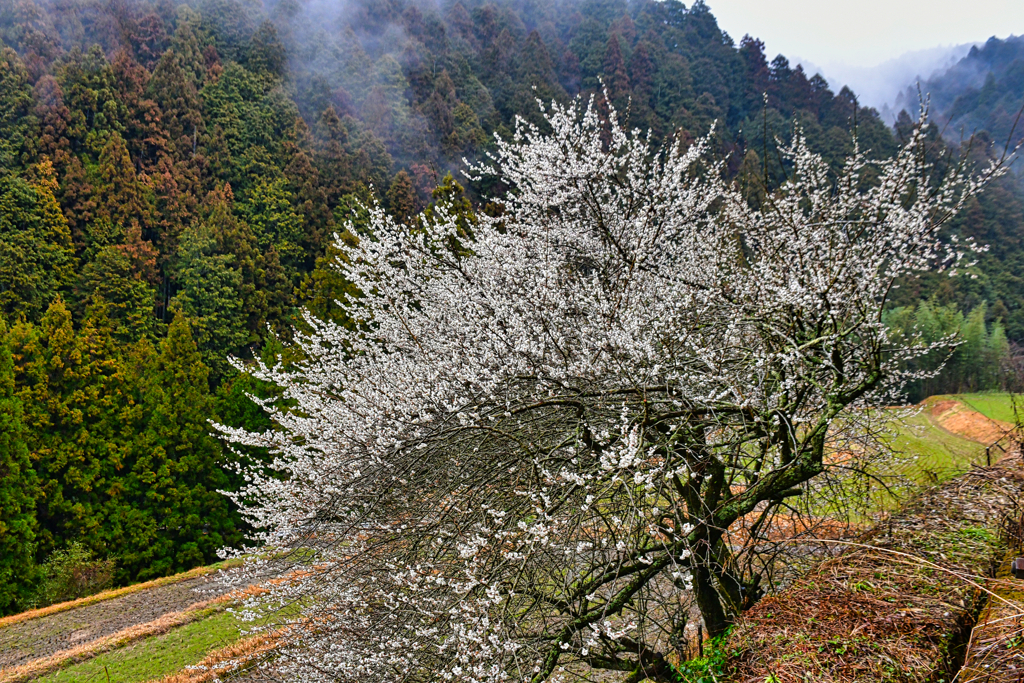
<path fill-rule="evenodd" d="M 925 493 L 841 556 L 751 609 L 727 644 L 736 681 L 929 681 L 955 667 L 1019 515 L 1014 458 Z"/>

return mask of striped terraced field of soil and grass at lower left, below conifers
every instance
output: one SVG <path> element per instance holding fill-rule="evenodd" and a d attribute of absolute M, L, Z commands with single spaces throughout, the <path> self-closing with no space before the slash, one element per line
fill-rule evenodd
<path fill-rule="evenodd" d="M 230 610 L 247 588 L 237 572 L 194 570 L 2 620 L 0 683 L 214 680 L 193 668 L 265 649 Z"/>

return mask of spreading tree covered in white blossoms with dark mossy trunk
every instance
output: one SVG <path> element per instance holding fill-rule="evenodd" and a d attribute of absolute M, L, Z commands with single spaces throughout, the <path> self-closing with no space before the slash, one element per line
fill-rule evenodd
<path fill-rule="evenodd" d="M 500 216 L 372 209 L 338 264 L 354 324 L 252 371 L 279 429 L 223 428 L 273 455 L 236 499 L 301 558 L 268 589 L 301 605 L 302 680 L 674 680 L 690 607 L 715 635 L 756 592 L 739 522 L 907 379 L 891 288 L 970 251 L 938 231 L 979 183 L 934 177 L 920 127 L 839 173 L 798 132 L 752 209 L 710 138 L 545 116 L 473 169 L 511 188 Z"/>

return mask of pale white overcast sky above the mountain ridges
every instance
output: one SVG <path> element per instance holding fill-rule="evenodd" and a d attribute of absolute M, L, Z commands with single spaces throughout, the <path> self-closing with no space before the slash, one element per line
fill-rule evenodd
<path fill-rule="evenodd" d="M 1024 34 L 1024 0 L 706 0 L 737 43 L 776 54 L 871 67 L 905 52 Z M 691 4 L 686 2 L 687 5 Z"/>

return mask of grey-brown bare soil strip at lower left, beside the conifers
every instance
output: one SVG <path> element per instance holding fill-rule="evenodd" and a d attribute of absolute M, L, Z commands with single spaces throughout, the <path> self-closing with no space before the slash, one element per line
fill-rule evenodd
<path fill-rule="evenodd" d="M 0 629 L 0 669 L 27 664 L 76 645 L 160 618 L 238 588 L 230 572 L 214 572 L 131 593 Z"/>

